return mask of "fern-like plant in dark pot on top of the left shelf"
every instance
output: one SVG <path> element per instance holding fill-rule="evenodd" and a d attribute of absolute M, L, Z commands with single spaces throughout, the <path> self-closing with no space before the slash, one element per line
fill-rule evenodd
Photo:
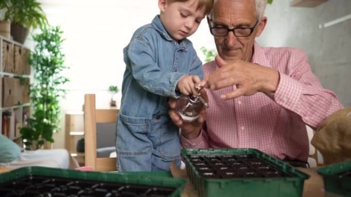
<path fill-rule="evenodd" d="M 11 35 L 15 41 L 24 43 L 30 28 L 48 25 L 46 15 L 37 0 L 8 0 L 5 20 L 11 21 Z"/>

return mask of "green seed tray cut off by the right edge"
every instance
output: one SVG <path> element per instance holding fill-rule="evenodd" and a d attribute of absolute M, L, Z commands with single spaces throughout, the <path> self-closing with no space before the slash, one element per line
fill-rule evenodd
<path fill-rule="evenodd" d="M 322 175 L 326 196 L 351 197 L 351 161 L 318 168 Z"/>

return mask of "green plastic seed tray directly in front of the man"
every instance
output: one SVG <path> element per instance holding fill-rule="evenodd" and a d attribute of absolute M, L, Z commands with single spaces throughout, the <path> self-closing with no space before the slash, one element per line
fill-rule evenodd
<path fill-rule="evenodd" d="M 245 149 L 232 149 L 232 148 L 223 148 L 223 149 L 182 149 L 182 157 L 185 160 L 187 174 L 194 185 L 198 190 L 199 196 L 201 197 L 211 197 L 211 196 L 236 196 L 236 197 L 257 197 L 257 196 L 269 196 L 269 197 L 297 197 L 302 196 L 303 183 L 305 179 L 308 179 L 309 176 L 297 170 L 293 166 L 290 166 L 278 159 L 272 158 L 267 154 L 251 148 Z M 197 157 L 199 156 L 199 158 Z M 199 167 L 203 163 L 195 163 L 197 159 L 206 159 L 206 165 L 212 166 L 209 167 L 211 170 L 220 172 L 223 168 L 227 168 L 230 159 L 225 160 L 223 158 L 235 158 L 236 162 L 231 163 L 232 165 L 229 170 L 240 170 L 241 168 L 248 170 L 245 172 L 226 172 L 226 174 L 246 174 L 246 176 L 239 176 L 236 178 L 226 178 L 226 177 L 216 177 L 208 178 L 208 174 L 212 172 L 204 172 L 203 169 L 207 167 Z M 208 158 L 221 159 L 225 166 L 219 163 L 221 168 L 216 168 L 215 166 L 218 163 L 210 163 Z M 250 158 L 246 160 L 246 158 Z M 244 160 L 245 159 L 245 160 Z M 247 162 L 246 162 L 247 161 Z M 236 164 L 242 162 L 240 165 L 246 165 L 248 162 L 252 166 L 241 166 Z M 255 167 L 255 165 L 257 167 Z M 264 166 L 263 166 L 264 164 Z M 261 174 L 256 169 L 267 168 L 269 171 L 266 177 L 260 177 Z M 252 172 L 250 172 L 250 170 Z M 271 173 L 274 172 L 274 173 Z M 274 175 L 274 176 L 272 176 Z"/>

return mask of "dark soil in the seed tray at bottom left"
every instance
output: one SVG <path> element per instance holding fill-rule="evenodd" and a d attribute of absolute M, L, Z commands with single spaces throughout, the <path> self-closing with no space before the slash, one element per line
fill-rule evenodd
<path fill-rule="evenodd" d="M 124 184 L 43 176 L 26 176 L 0 184 L 2 197 L 105 197 L 169 196 L 177 188 Z"/>

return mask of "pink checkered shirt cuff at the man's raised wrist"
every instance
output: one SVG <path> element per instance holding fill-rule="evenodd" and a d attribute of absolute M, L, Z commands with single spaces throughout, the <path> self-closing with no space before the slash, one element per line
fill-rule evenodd
<path fill-rule="evenodd" d="M 295 107 L 302 94 L 302 86 L 295 79 L 280 73 L 280 80 L 274 94 L 275 101 L 281 106 L 291 110 Z"/>

